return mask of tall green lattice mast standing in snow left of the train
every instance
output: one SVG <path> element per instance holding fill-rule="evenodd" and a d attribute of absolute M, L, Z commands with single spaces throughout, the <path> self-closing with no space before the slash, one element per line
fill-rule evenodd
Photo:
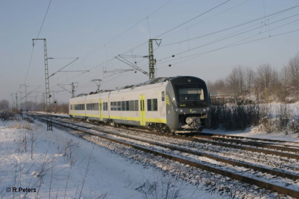
<path fill-rule="evenodd" d="M 52 116 L 51 116 L 51 103 L 50 103 L 50 85 L 49 85 L 49 72 L 48 72 L 48 57 L 47 57 L 47 44 L 46 39 L 32 39 L 33 46 L 34 40 L 44 40 L 44 58 L 45 58 L 45 82 L 46 82 L 46 110 L 47 110 L 47 131 L 52 129 Z"/>

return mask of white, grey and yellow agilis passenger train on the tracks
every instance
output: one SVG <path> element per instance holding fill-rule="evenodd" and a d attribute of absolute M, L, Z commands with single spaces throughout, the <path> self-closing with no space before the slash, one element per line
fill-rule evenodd
<path fill-rule="evenodd" d="M 208 87 L 193 76 L 149 79 L 69 100 L 69 116 L 75 120 L 152 127 L 170 134 L 201 132 L 210 126 L 210 113 Z"/>

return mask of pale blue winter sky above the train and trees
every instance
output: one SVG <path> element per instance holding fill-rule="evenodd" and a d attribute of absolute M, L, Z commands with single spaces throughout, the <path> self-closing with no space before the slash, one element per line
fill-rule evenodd
<path fill-rule="evenodd" d="M 41 102 L 46 39 L 50 92 L 75 95 L 145 82 L 149 39 L 156 77 L 216 81 L 237 65 L 278 71 L 299 52 L 296 0 L 0 1 L 0 100 L 21 92 Z M 174 55 L 174 56 L 173 56 Z M 115 58 L 116 57 L 116 58 Z M 79 58 L 76 60 L 76 58 Z M 169 67 L 171 65 L 171 67 Z M 58 72 L 59 71 L 59 72 Z M 136 73 L 135 73 L 136 72 Z M 13 94 L 13 99 L 11 94 Z M 18 93 L 19 98 L 19 93 Z M 25 99 L 23 99 L 24 102 Z M 18 101 L 20 103 L 20 101 Z M 15 102 L 14 102 L 15 103 Z"/>

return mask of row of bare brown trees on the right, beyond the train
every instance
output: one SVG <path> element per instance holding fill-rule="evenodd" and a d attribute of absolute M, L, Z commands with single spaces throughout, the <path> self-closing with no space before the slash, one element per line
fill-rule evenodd
<path fill-rule="evenodd" d="M 256 70 L 237 65 L 224 79 L 207 84 L 212 96 L 217 93 L 234 101 L 296 102 L 299 99 L 299 52 L 280 71 L 269 63 L 259 65 Z"/>

